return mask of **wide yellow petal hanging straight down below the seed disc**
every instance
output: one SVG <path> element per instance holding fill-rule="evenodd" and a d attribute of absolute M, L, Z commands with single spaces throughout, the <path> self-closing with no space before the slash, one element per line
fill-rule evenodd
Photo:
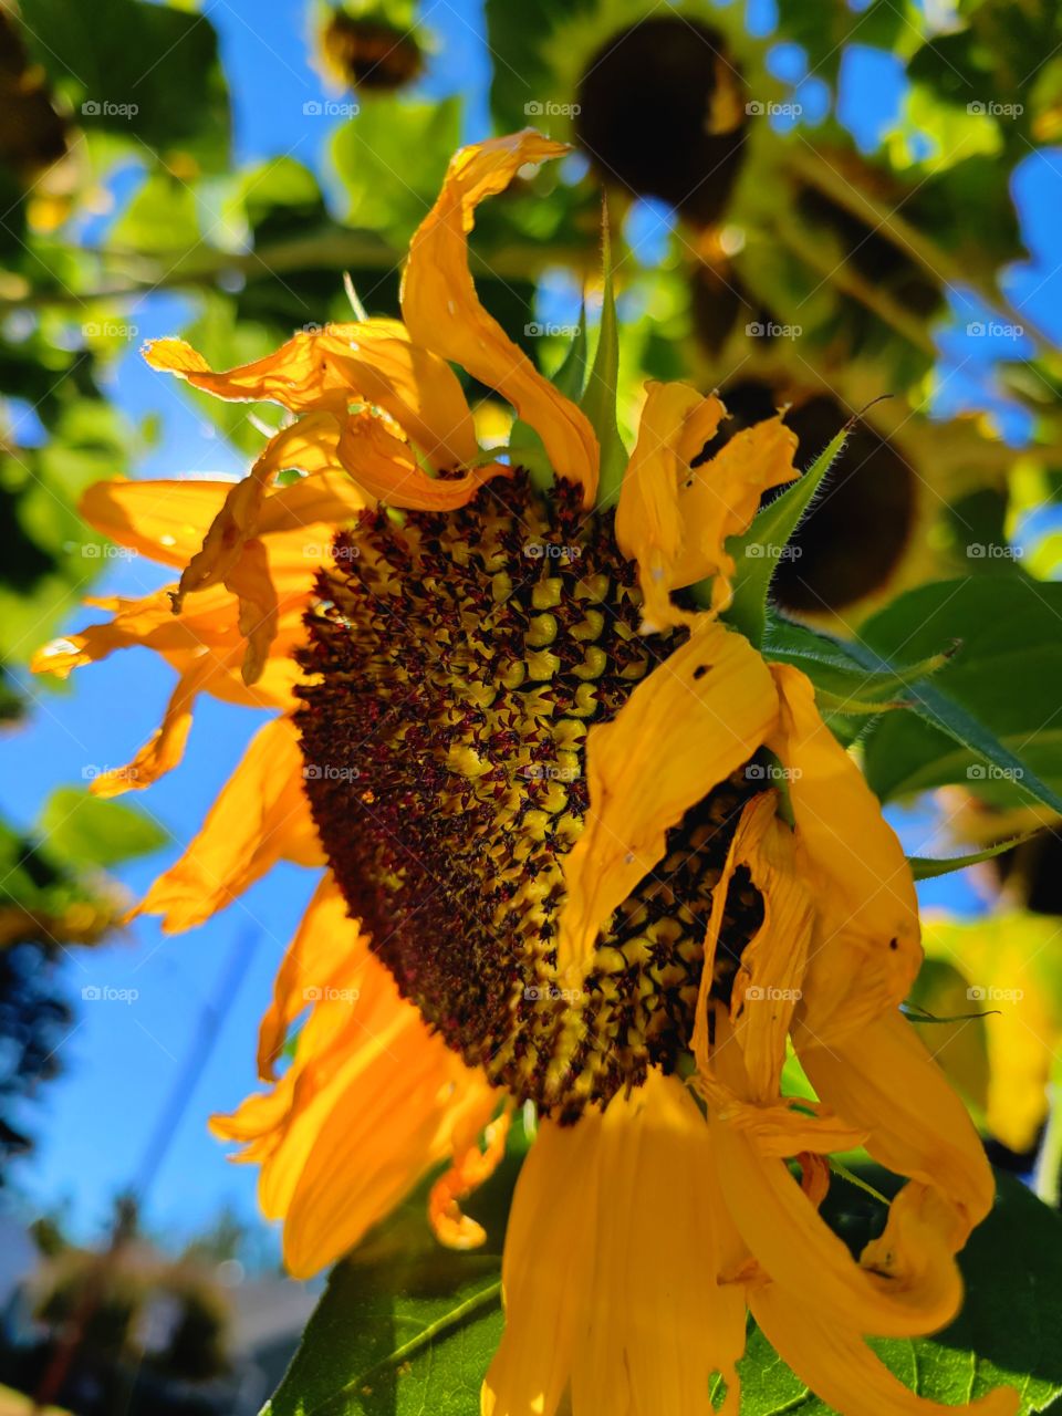
<path fill-rule="evenodd" d="M 719 1274 L 739 1257 L 704 1117 L 675 1078 L 653 1070 L 578 1126 L 544 1121 L 510 1216 L 486 1416 L 554 1416 L 566 1385 L 572 1416 L 709 1416 L 714 1371 L 736 1412 L 745 1298 Z"/>

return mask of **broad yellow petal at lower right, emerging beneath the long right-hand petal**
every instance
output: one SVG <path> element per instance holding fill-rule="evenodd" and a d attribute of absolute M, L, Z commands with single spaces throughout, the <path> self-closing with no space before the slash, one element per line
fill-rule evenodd
<path fill-rule="evenodd" d="M 913 1024 L 889 1012 L 828 1046 L 801 1037 L 797 1051 L 818 1096 L 867 1130 L 875 1160 L 939 1185 L 967 1229 L 984 1218 L 994 1194 L 984 1147 Z"/>

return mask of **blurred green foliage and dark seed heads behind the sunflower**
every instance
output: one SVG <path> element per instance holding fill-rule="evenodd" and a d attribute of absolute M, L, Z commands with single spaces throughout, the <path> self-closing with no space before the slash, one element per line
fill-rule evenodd
<path fill-rule="evenodd" d="M 1042 256 L 1024 244 L 1014 191 L 1021 164 L 1062 135 L 1062 10 L 1051 0 L 871 0 L 860 10 L 777 0 L 776 10 L 776 31 L 759 35 L 743 6 L 708 0 L 486 0 L 496 129 L 531 123 L 576 154 L 483 208 L 472 236 L 479 289 L 539 367 L 564 370 L 572 396 L 598 350 L 627 442 L 650 377 L 718 387 L 729 433 L 787 408 L 801 469 L 814 481 L 821 473 L 814 514 L 801 503 L 786 520 L 794 503 L 783 497 L 763 508 L 739 549 L 784 547 L 792 532 L 793 554 L 739 562 L 736 613 L 752 616 L 775 657 L 813 677 L 831 728 L 862 753 L 882 797 L 960 787 L 994 823 L 973 844 L 1003 840 L 1062 814 L 1062 600 L 1046 583 L 1062 564 L 1051 520 L 1062 491 L 1062 358 L 1032 312 L 1015 307 L 1008 278 Z M 313 149 L 238 161 L 218 37 L 194 0 L 0 0 L 0 718 L 11 724 L 27 711 L 30 651 L 101 575 L 103 589 L 120 579 L 122 555 L 75 507 L 93 480 L 133 472 L 156 436 L 153 421 L 130 426 L 113 398 L 144 302 L 183 292 L 191 314 L 180 333 L 215 367 L 350 317 L 344 275 L 370 313 L 398 313 L 404 248 L 467 136 L 469 110 L 421 82 L 436 41 L 430 11 L 413 0 L 309 0 L 304 16 L 329 96 L 293 113 L 292 129 Z M 857 48 L 889 59 L 903 81 L 899 112 L 875 140 L 857 142 L 838 112 Z M 639 238 L 646 228 L 650 242 Z M 571 313 L 554 320 L 558 292 Z M 933 416 L 949 368 L 964 368 L 978 338 L 967 378 L 977 406 Z M 248 418 L 187 388 L 180 396 L 244 456 L 276 426 L 276 409 Z M 603 426 L 600 409 L 595 418 Z M 1004 418 L 1024 419 L 1020 453 L 1000 436 Z M 845 429 L 827 467 L 820 455 Z M 517 433 L 534 466 L 534 439 Z M 10 990 L 0 1028 L 10 1025 L 4 1007 L 20 1018 L 38 1011 L 40 1035 L 23 1042 L 27 1078 L 47 1075 L 52 1061 L 40 1059 L 67 1027 L 57 949 L 101 937 L 118 908 L 101 871 L 159 844 L 144 817 L 72 789 L 27 834 L 0 823 Z M 1025 906 L 1035 913 L 1031 899 L 1015 908 Z M 949 947 L 954 957 L 933 961 L 918 1001 L 969 1012 L 974 954 L 964 961 L 959 939 Z M 1054 969 L 1058 949 L 1045 952 Z M 1038 995 L 1062 995 L 1054 973 L 1045 980 Z M 949 1056 L 966 1049 L 956 1075 L 981 1120 L 991 1120 L 995 1066 L 987 1034 L 978 1021 L 956 1025 L 949 1041 Z M 1025 1140 L 1046 1107 L 1044 1066 L 1038 1056 Z M 1004 1252 L 1011 1222 L 1015 1233 L 1041 1232 L 1045 1216 L 1024 1204 L 1005 1191 L 986 1253 Z M 408 1388 L 430 1393 L 432 1409 L 474 1409 L 469 1393 L 500 1321 L 497 1263 L 425 1255 L 413 1221 L 396 1223 L 406 1221 L 404 1296 L 399 1266 L 371 1250 L 340 1269 L 275 1412 L 302 1409 L 303 1379 L 327 1399 L 329 1383 L 350 1389 L 365 1369 L 384 1372 L 378 1393 L 395 1398 L 389 1330 L 436 1323 L 450 1337 L 418 1349 Z M 1044 1233 L 1046 1252 L 1056 1235 Z M 978 1253 L 971 1262 L 991 1267 Z M 991 1300 L 991 1274 L 974 1289 Z M 119 1300 L 115 1334 L 127 1334 Z M 450 1330 L 459 1303 L 470 1318 Z M 353 1317 L 357 1342 L 334 1341 Z M 981 1320 L 991 1328 L 976 1310 L 974 1325 Z M 190 1311 L 181 1342 L 210 1352 L 211 1324 L 208 1303 Z M 947 1352 L 974 1361 L 978 1340 L 949 1341 L 910 1358 L 925 1358 L 926 1391 L 944 1399 Z M 418 1365 L 429 1351 L 435 1378 Z M 756 1351 L 746 1359 L 750 1409 L 804 1409 L 787 1374 L 776 1388 L 759 1381 L 770 1364 Z M 1056 1389 L 1042 1354 L 1007 1361 L 1031 1374 L 1029 1403 Z M 439 1372 L 450 1374 L 456 1405 L 432 1388 Z"/>

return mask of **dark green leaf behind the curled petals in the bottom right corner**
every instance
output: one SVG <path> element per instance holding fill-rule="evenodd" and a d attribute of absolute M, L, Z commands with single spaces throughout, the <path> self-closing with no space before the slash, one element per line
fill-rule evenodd
<path fill-rule="evenodd" d="M 895 1177 L 861 1171 L 892 1194 Z M 889 1338 L 871 1345 L 886 1366 L 920 1396 L 946 1405 L 976 1400 L 1010 1383 L 1021 1393 L 1021 1416 L 1042 1412 L 1062 1392 L 1062 1221 L 1018 1180 L 997 1174 L 995 1208 L 959 1256 L 966 1303 L 959 1318 L 932 1338 Z M 833 1185 L 824 1211 L 858 1252 L 881 1232 L 881 1205 L 851 1185 Z M 793 1375 L 759 1330 L 743 1359 L 742 1416 L 826 1416 L 830 1408 Z"/>

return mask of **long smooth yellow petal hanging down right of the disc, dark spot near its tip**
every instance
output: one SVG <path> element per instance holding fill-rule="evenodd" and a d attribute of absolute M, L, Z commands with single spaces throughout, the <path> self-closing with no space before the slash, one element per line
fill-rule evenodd
<path fill-rule="evenodd" d="M 823 722 L 811 681 L 789 664 L 772 673 L 780 714 L 767 746 L 787 767 L 817 913 L 799 1018 L 828 1041 L 908 995 L 922 963 L 918 899 L 903 848 Z"/>

